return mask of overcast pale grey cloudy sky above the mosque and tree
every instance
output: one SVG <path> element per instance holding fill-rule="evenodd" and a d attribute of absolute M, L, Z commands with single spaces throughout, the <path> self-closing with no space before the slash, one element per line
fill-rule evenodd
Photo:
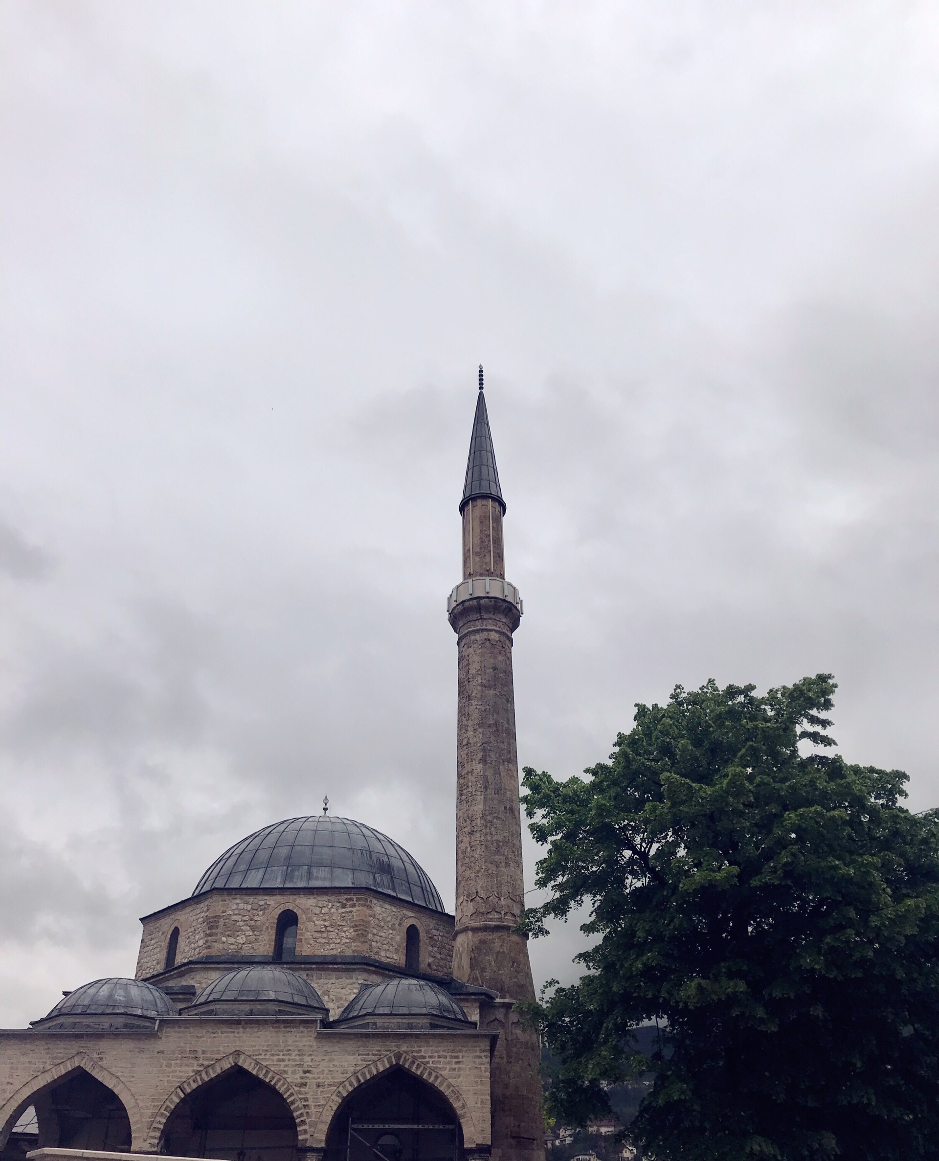
<path fill-rule="evenodd" d="M 452 906 L 479 362 L 523 764 L 832 671 L 844 755 L 939 802 L 934 5 L 0 26 L 0 1024 L 324 793 Z"/>

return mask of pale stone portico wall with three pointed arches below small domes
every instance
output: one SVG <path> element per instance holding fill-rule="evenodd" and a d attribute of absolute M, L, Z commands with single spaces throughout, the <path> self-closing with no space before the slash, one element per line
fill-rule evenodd
<path fill-rule="evenodd" d="M 322 1147 L 342 1097 L 395 1066 L 447 1096 L 468 1147 L 490 1140 L 490 1037 L 477 1031 L 344 1032 L 322 1030 L 316 1021 L 180 1019 L 162 1022 L 156 1034 L 0 1032 L 0 1146 L 38 1091 L 82 1067 L 123 1101 L 133 1152 L 156 1152 L 176 1101 L 236 1065 L 284 1096 L 302 1146 Z"/>

